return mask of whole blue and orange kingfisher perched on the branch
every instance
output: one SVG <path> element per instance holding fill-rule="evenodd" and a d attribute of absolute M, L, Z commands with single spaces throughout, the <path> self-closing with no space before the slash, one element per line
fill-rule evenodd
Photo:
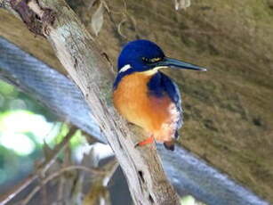
<path fill-rule="evenodd" d="M 125 119 L 149 135 L 137 145 L 155 140 L 173 151 L 178 129 L 183 124 L 181 94 L 173 80 L 159 70 L 205 69 L 166 57 L 162 49 L 149 40 L 135 40 L 125 45 L 117 67 L 114 106 Z"/>

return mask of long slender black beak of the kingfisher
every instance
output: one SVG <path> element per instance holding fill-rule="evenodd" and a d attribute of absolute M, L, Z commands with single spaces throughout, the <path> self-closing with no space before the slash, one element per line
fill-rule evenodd
<path fill-rule="evenodd" d="M 177 68 L 177 69 L 187 69 L 187 70 L 199 70 L 199 71 L 206 71 L 205 68 L 199 67 L 197 65 L 194 64 L 190 64 L 188 62 L 184 62 L 184 61 L 179 61 L 176 59 L 172 59 L 172 58 L 167 58 L 165 57 L 165 59 L 163 61 L 158 61 L 156 62 L 157 66 L 167 66 L 167 67 L 171 67 L 171 68 Z"/>

